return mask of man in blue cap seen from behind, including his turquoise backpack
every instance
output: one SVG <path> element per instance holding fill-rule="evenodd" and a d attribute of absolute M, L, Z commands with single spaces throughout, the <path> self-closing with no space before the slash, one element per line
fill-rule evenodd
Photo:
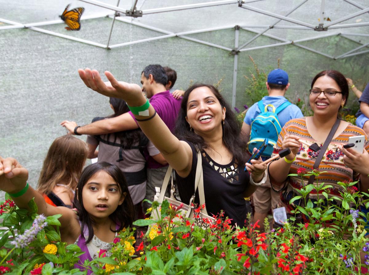
<path fill-rule="evenodd" d="M 248 140 L 250 152 L 254 147 L 258 148 L 259 141 L 262 142 L 265 138 L 270 140 L 262 155 L 263 160 L 269 159 L 273 153 L 273 146 L 283 125 L 290 119 L 303 117 L 300 108 L 284 97 L 290 86 L 288 74 L 284 70 L 272 70 L 265 84 L 268 95 L 248 109 L 242 124 L 242 134 Z M 256 189 L 252 197 L 255 208 L 254 222 L 260 220 L 260 226 L 263 227 L 269 210 L 276 208 L 279 193 L 272 190 L 270 182 L 266 182 Z"/>

